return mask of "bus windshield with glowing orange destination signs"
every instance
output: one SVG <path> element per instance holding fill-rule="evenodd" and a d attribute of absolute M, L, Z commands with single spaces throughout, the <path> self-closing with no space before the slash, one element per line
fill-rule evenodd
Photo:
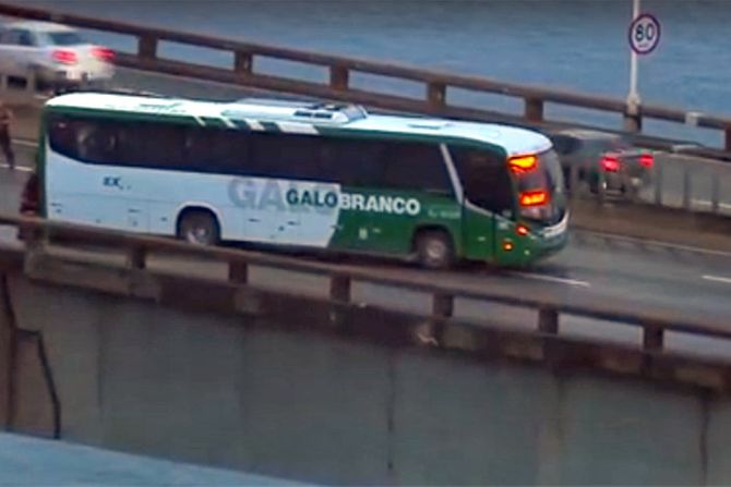
<path fill-rule="evenodd" d="M 555 151 L 514 158 L 510 165 L 517 182 L 520 216 L 548 224 L 561 221 L 566 214 L 566 202 L 563 174 Z"/>

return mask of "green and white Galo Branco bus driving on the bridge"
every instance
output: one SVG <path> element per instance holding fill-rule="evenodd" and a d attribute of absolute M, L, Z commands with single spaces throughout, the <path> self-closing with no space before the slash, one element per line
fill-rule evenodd
<path fill-rule="evenodd" d="M 200 245 L 522 267 L 567 238 L 543 135 L 350 104 L 64 94 L 44 107 L 34 179 L 45 218 Z"/>

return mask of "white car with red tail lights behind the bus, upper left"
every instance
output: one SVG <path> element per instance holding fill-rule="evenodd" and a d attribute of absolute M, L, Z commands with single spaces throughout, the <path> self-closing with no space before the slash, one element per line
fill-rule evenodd
<path fill-rule="evenodd" d="M 74 28 L 48 22 L 14 22 L 0 27 L 0 73 L 50 86 L 108 81 L 115 52 L 88 42 Z"/>

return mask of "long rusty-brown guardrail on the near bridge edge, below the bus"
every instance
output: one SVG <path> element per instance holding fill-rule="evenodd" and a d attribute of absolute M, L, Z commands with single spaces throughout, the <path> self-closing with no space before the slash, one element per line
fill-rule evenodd
<path fill-rule="evenodd" d="M 52 222 L 36 218 L 0 216 L 0 224 L 19 228 L 25 235 L 26 248 L 33 249 L 49 239 L 81 240 L 86 245 L 104 246 L 123 251 L 127 255 L 127 267 L 144 272 L 152 253 L 176 254 L 187 257 L 201 257 L 228 266 L 228 282 L 235 285 L 249 283 L 249 267 L 273 267 L 279 270 L 324 276 L 329 282 L 329 300 L 334 305 L 361 306 L 351 300 L 351 287 L 356 282 L 379 284 L 424 293 L 431 300 L 431 315 L 427 319 L 436 325 L 454 319 L 455 300 L 475 300 L 534 309 L 537 313 L 536 337 L 560 337 L 560 317 L 571 315 L 589 319 L 599 319 L 616 325 L 631 325 L 642 330 L 639 352 L 651 356 L 674 356 L 674 352 L 664 346 L 668 332 L 683 332 L 695 337 L 708 337 L 731 341 L 731 327 L 696 321 L 682 321 L 671 313 L 626 312 L 615 300 L 596 300 L 590 304 L 571 304 L 554 299 L 534 297 L 530 295 L 513 295 L 490 290 L 475 290 L 459 284 L 434 283 L 428 279 L 414 277 L 387 277 L 378 270 L 358 266 L 343 266 L 326 263 L 305 261 L 293 257 L 285 257 L 265 253 L 221 247 L 202 247 L 175 240 L 140 236 L 132 233 L 105 231 L 92 227 Z M 26 251 L 27 252 L 27 251 Z M 395 311 L 396 313 L 400 313 Z M 489 322 L 482 324 L 489 327 Z M 439 326 L 436 327 L 439 330 Z M 439 331 L 435 343 L 440 342 Z M 731 366 L 731 363 L 724 364 Z M 729 377 L 731 387 L 731 376 Z"/>

